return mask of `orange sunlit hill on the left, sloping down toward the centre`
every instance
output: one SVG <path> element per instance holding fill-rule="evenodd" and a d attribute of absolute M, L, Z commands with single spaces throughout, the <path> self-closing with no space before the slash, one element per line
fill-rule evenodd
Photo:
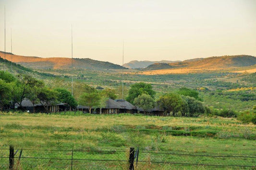
<path fill-rule="evenodd" d="M 0 51 L 0 57 L 4 58 L 4 52 Z M 5 57 L 7 60 L 14 63 L 23 65 L 28 68 L 41 68 L 41 69 L 68 69 L 71 68 L 72 59 L 67 57 L 28 57 L 28 56 L 18 56 L 12 55 L 11 53 L 6 53 Z M 93 60 L 90 58 L 73 58 L 74 68 L 83 69 L 122 69 L 123 67 L 110 62 Z M 124 68 L 126 69 L 126 68 Z"/>

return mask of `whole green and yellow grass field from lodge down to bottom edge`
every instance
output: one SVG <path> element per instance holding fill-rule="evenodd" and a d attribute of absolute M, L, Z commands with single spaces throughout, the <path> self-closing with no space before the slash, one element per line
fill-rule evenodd
<path fill-rule="evenodd" d="M 156 117 L 131 114 L 28 114 L 28 113 L 0 113 L 0 148 L 24 149 L 57 149 L 77 150 L 74 158 L 77 159 L 120 159 L 127 160 L 129 147 L 139 147 L 144 152 L 168 152 L 195 155 L 237 155 L 255 156 L 256 125 L 243 125 L 235 118 L 221 117 Z M 93 152 L 99 150 L 114 150 L 121 152 Z M 5 150 L 6 152 L 8 150 Z M 78 153 L 79 151 L 90 151 Z M 43 152 L 43 153 L 40 153 Z M 24 155 L 69 158 L 71 151 L 24 151 Z M 7 153 L 6 153 L 7 155 Z M 215 158 L 193 158 L 191 156 L 165 156 L 154 153 L 140 153 L 140 160 L 150 161 L 182 161 L 192 163 L 216 163 Z M 61 163 L 62 161 L 62 163 Z M 61 160 L 49 164 L 42 161 L 35 165 L 34 161 L 26 160 L 29 168 L 69 169 L 70 162 Z M 219 159 L 219 163 L 234 164 L 232 159 Z M 25 160 L 23 161 L 23 163 Z M 33 163 L 34 162 L 34 163 Z M 58 162 L 58 161 L 57 161 Z M 256 165 L 256 160 L 248 160 L 246 165 Z M 38 163 L 38 162 L 37 162 Z M 244 162 L 245 163 L 245 162 Z M 244 164 L 242 162 L 242 164 Z M 101 163 L 102 164 L 102 163 Z M 107 163 L 108 164 L 108 163 Z M 106 169 L 122 169 L 127 162 L 117 166 L 105 165 Z M 58 166 L 61 165 L 61 167 Z M 80 169 L 83 162 L 76 160 Z M 101 169 L 99 165 L 90 165 L 93 169 Z M 170 169 L 171 165 L 141 163 L 138 169 Z M 191 169 L 193 166 L 175 165 L 176 168 Z M 57 168 L 56 168 L 57 167 Z M 198 166 L 196 166 L 198 168 Z M 200 167 L 209 169 L 216 167 Z M 219 169 L 226 167 L 218 167 Z M 235 167 L 237 168 L 237 167 Z M 26 169 L 26 168 L 24 168 Z M 75 169 L 75 168 L 74 168 Z M 125 169 L 125 168 L 124 168 Z M 237 168 L 238 169 L 238 168 Z"/>

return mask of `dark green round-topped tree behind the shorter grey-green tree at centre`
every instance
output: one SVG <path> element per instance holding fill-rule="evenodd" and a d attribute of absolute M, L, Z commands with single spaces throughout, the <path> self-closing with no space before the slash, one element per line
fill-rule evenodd
<path fill-rule="evenodd" d="M 131 85 L 131 89 L 129 90 L 126 100 L 134 104 L 134 99 L 142 94 L 148 94 L 152 98 L 154 98 L 156 92 L 153 91 L 153 87 L 151 84 L 147 84 L 144 82 L 134 83 L 133 85 Z"/>

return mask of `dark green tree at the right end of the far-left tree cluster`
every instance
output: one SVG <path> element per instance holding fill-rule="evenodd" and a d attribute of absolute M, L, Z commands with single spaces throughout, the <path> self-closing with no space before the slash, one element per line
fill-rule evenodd
<path fill-rule="evenodd" d="M 64 88 L 57 88 L 57 89 L 54 89 L 54 91 L 58 92 L 57 99 L 59 102 L 67 103 L 70 107 L 73 107 L 73 108 L 77 106 L 77 102 L 73 98 L 70 91 L 67 91 Z"/>

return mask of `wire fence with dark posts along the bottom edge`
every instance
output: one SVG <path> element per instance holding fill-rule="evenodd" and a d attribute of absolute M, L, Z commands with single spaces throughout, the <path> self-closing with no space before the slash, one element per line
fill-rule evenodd
<path fill-rule="evenodd" d="M 124 150 L 40 150 L 0 148 L 0 169 L 165 170 L 255 169 L 256 155 Z"/>

